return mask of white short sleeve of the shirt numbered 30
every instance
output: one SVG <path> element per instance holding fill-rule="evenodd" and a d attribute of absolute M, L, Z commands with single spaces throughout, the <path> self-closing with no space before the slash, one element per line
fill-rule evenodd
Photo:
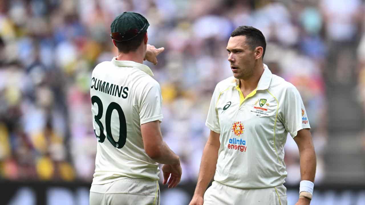
<path fill-rule="evenodd" d="M 162 96 L 160 85 L 148 84 L 143 89 L 139 102 L 139 119 L 141 124 L 162 120 Z"/>

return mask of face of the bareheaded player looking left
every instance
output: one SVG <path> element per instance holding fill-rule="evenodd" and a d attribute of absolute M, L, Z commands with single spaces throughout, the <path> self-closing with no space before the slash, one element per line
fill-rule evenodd
<path fill-rule="evenodd" d="M 231 37 L 228 40 L 227 51 L 235 78 L 247 80 L 253 76 L 255 49 L 251 49 L 246 43 L 246 36 Z"/>

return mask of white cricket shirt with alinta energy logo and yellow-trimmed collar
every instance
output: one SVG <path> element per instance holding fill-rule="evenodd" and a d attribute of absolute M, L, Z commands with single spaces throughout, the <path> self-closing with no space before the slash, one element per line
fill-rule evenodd
<path fill-rule="evenodd" d="M 239 80 L 219 82 L 206 125 L 220 133 L 214 180 L 239 188 L 282 185 L 287 177 L 284 144 L 288 132 L 310 128 L 298 90 L 264 64 L 257 88 L 243 98 Z"/>

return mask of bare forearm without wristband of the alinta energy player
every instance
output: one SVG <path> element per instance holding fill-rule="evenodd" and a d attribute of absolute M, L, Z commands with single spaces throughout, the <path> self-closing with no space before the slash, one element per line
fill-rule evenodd
<path fill-rule="evenodd" d="M 201 157 L 199 177 L 195 188 L 196 195 L 203 196 L 209 183 L 215 174 L 215 169 L 218 160 L 219 147 L 206 144 L 203 150 L 203 156 Z"/>

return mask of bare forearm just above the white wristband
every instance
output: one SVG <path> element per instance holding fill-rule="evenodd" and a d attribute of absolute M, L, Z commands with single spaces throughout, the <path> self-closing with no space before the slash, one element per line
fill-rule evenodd
<path fill-rule="evenodd" d="M 300 176 L 301 180 L 308 180 L 314 182 L 316 174 L 316 154 L 314 148 L 307 148 L 301 150 L 300 154 Z"/>

